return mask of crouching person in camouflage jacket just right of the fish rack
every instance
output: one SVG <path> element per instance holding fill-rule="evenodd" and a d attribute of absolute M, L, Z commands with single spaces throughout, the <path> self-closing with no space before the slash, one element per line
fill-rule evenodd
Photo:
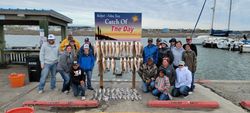
<path fill-rule="evenodd" d="M 138 75 L 142 79 L 142 90 L 147 93 L 154 88 L 154 80 L 157 76 L 157 67 L 153 63 L 153 58 L 148 58 L 147 63 L 141 65 Z"/>

